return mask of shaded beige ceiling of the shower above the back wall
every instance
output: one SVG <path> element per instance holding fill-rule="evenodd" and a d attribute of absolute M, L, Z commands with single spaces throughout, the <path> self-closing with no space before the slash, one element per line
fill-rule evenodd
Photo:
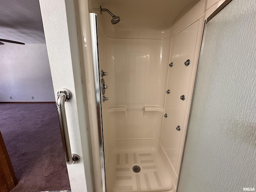
<path fill-rule="evenodd" d="M 101 5 L 122 18 L 118 28 L 164 30 L 199 0 L 110 0 Z"/>

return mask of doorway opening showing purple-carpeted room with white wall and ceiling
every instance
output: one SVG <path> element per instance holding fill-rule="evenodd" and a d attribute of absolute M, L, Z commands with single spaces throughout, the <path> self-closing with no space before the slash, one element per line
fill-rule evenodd
<path fill-rule="evenodd" d="M 18 184 L 12 192 L 70 190 L 40 6 L 1 2 L 0 131 Z"/>

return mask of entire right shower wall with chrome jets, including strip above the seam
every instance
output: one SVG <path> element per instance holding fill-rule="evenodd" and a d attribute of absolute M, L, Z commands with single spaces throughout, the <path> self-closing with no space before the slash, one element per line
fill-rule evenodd
<path fill-rule="evenodd" d="M 224 0 L 201 0 L 190 8 L 186 14 L 180 15 L 172 25 L 172 45 L 166 95 L 165 113 L 168 118 L 163 120 L 161 144 L 176 173 L 176 180 L 182 163 L 186 131 L 194 83 L 200 55 L 204 20 L 220 6 Z M 190 59 L 190 65 L 184 62 Z M 180 96 L 184 95 L 185 100 Z M 176 127 L 180 126 L 180 131 Z"/>

